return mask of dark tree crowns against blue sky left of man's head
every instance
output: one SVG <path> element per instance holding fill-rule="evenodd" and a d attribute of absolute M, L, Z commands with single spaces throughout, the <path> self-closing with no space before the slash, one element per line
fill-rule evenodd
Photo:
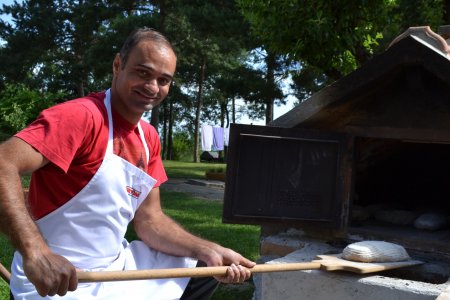
<path fill-rule="evenodd" d="M 123 15 L 121 2 L 25 0 L 4 5 L 0 13 L 10 14 L 13 24 L 0 21 L 0 38 L 6 41 L 0 50 L 3 79 L 83 96 L 93 82 L 91 45 L 103 24 Z"/>

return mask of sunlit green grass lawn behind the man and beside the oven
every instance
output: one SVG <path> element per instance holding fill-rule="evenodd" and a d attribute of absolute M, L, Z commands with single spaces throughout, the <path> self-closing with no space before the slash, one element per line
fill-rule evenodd
<path fill-rule="evenodd" d="M 206 171 L 225 168 L 225 164 L 187 163 L 164 161 L 169 177 L 204 178 Z M 190 232 L 229 247 L 249 259 L 259 257 L 258 226 L 222 224 L 222 203 L 191 197 L 178 192 L 161 192 L 165 212 Z M 128 239 L 134 239 L 132 229 Z M 0 261 L 9 269 L 13 250 L 3 235 L 0 235 Z M 247 300 L 252 298 L 252 290 L 221 285 L 214 300 Z M 0 280 L 0 299 L 9 299 L 8 286 Z"/>

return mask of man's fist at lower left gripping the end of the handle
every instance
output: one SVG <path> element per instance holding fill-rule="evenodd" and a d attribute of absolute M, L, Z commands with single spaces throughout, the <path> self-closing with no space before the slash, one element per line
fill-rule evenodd
<path fill-rule="evenodd" d="M 23 269 L 37 292 L 44 296 L 64 296 L 78 285 L 75 267 L 64 257 L 48 251 L 23 259 Z"/>

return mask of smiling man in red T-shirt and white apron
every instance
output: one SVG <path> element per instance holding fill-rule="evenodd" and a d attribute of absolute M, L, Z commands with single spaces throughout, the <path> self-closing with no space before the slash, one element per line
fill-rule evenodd
<path fill-rule="evenodd" d="M 76 270 L 194 267 L 198 260 L 229 265 L 221 282 L 250 277 L 253 262 L 193 236 L 161 210 L 167 177 L 159 138 L 141 117 L 167 96 L 175 68 L 165 37 L 139 29 L 114 59 L 109 90 L 43 111 L 0 145 L 0 226 L 17 249 L 16 300 L 200 299 L 211 290 L 210 282 L 192 280 L 186 288 L 188 278 L 78 284 Z M 26 202 L 20 175 L 31 172 Z M 142 241 L 128 244 L 131 221 Z"/>

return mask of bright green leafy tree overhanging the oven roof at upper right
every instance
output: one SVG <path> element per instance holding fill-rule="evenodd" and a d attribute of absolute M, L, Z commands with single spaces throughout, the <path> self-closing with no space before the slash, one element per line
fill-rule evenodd
<path fill-rule="evenodd" d="M 448 0 L 237 3 L 265 47 L 296 66 L 291 75 L 300 100 L 364 64 L 408 27 L 429 25 L 436 30 L 450 15 Z"/>

